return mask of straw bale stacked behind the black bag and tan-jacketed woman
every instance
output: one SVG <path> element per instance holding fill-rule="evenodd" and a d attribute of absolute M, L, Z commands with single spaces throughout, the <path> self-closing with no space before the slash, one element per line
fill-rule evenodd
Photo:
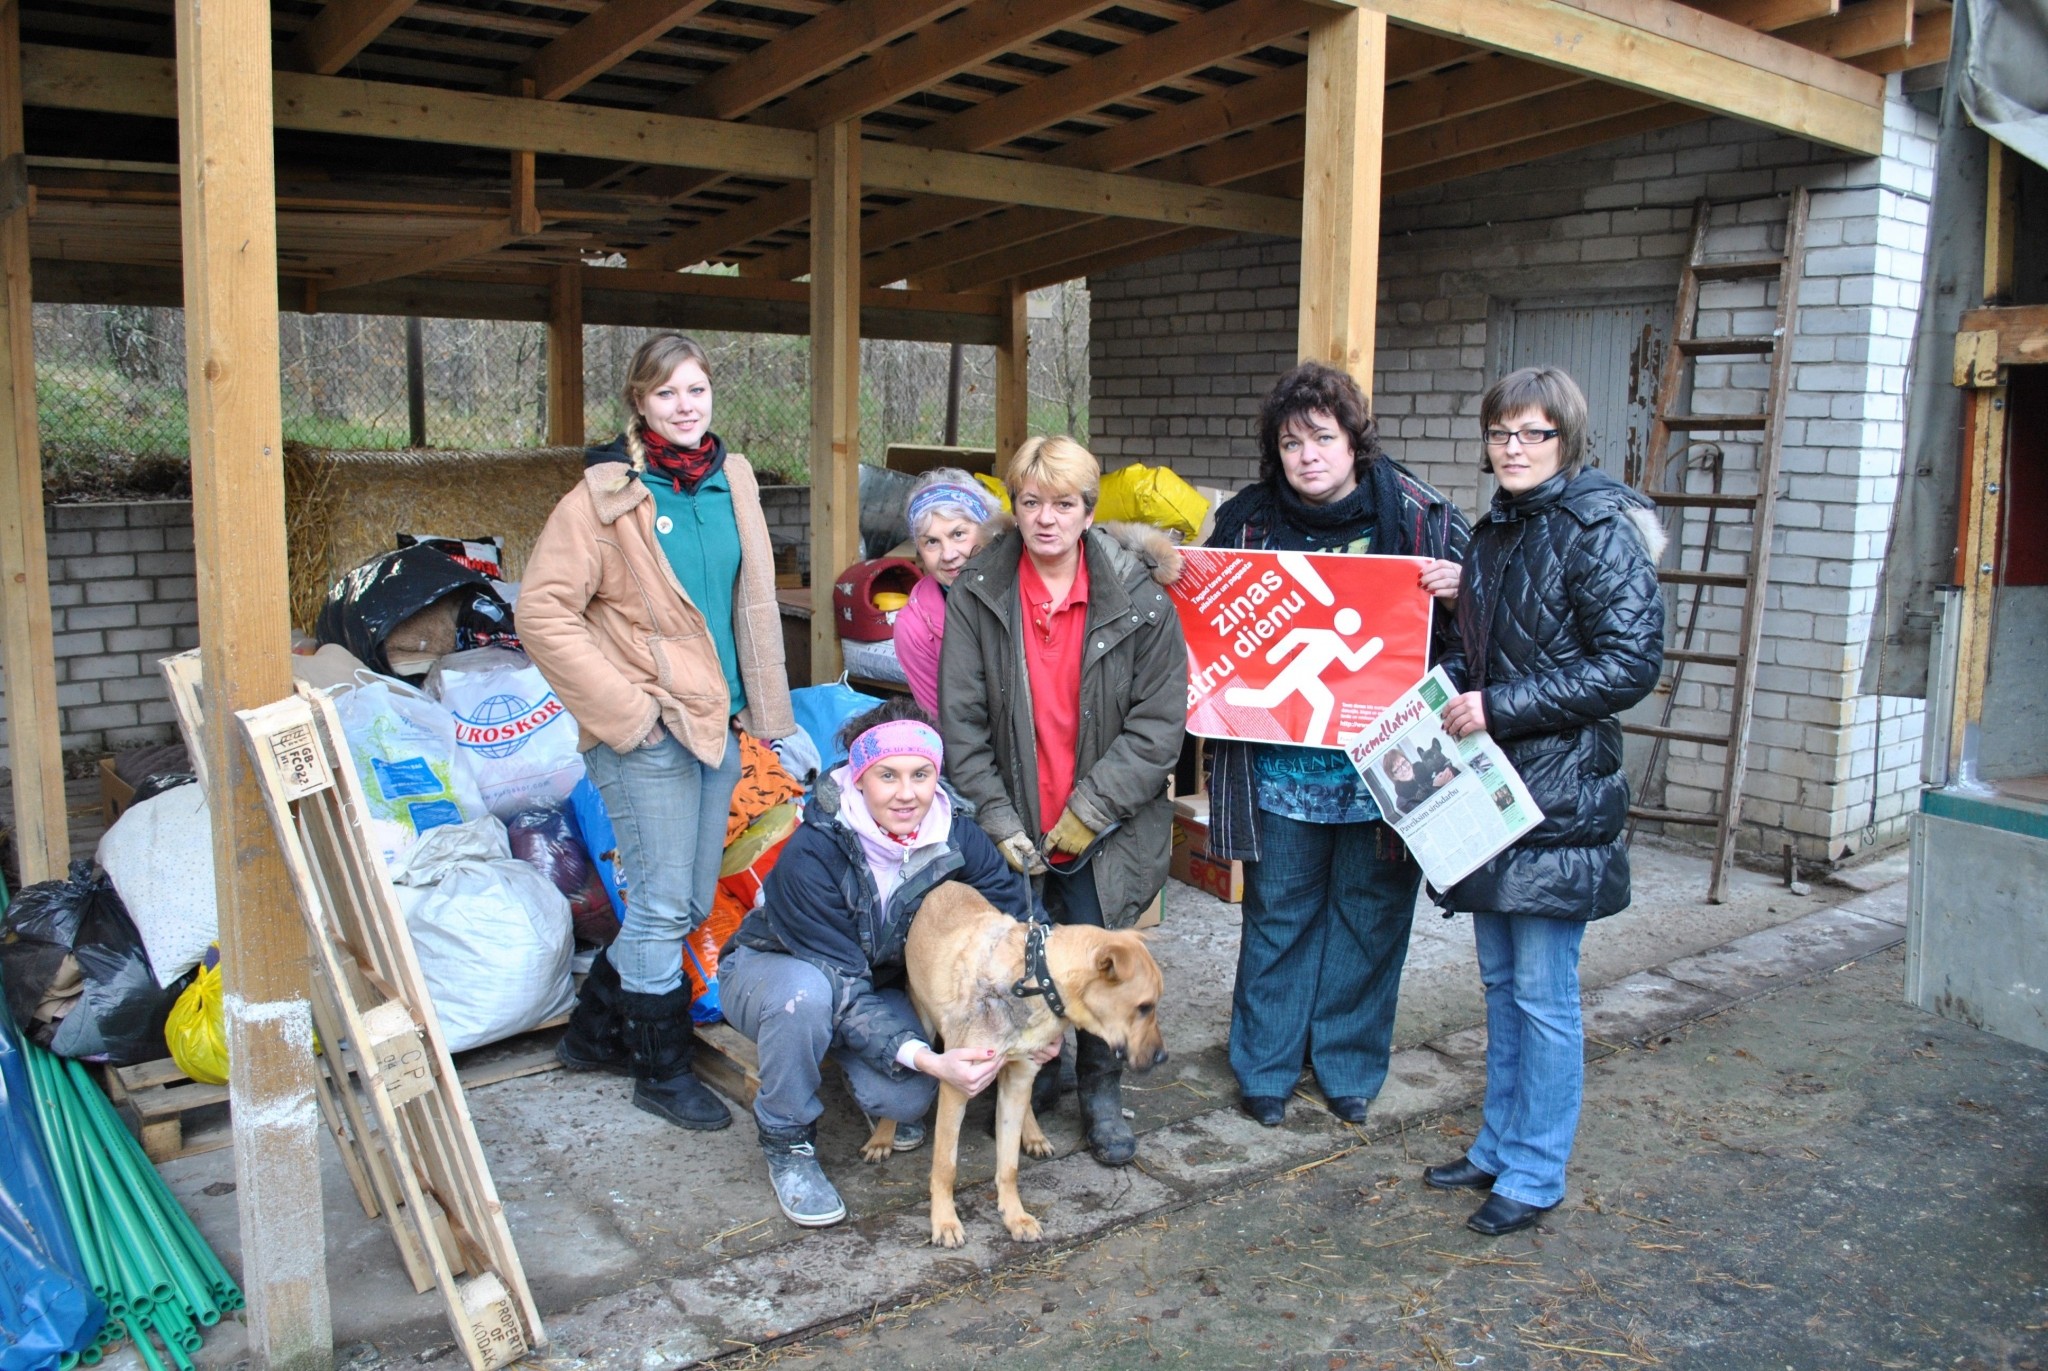
<path fill-rule="evenodd" d="M 291 621 L 313 631 L 328 586 L 399 533 L 502 537 L 506 580 L 526 570 L 555 502 L 584 477 L 584 449 L 336 451 L 285 445 Z"/>

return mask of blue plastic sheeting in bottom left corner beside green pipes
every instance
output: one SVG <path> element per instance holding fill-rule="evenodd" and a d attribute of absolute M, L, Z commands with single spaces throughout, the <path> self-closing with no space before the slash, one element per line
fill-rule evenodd
<path fill-rule="evenodd" d="M 20 1037 L 0 1014 L 0 1371 L 53 1369 L 102 1322 L 43 1152 Z"/>

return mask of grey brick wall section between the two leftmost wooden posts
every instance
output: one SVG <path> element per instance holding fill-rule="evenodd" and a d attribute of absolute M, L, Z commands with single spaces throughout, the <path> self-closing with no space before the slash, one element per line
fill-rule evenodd
<path fill-rule="evenodd" d="M 199 646 L 193 506 L 55 504 L 43 529 L 63 748 L 104 752 L 176 738 L 156 660 Z M 8 756 L 0 748 L 0 764 Z"/>

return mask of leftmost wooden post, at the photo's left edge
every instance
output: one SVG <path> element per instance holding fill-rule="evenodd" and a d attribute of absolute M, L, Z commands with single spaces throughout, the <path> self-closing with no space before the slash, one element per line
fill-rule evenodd
<path fill-rule="evenodd" d="M 0 166 L 20 168 L 20 6 L 0 2 Z M 72 857 L 57 742 L 57 658 L 43 539 L 43 445 L 35 426 L 29 309 L 29 186 L 0 205 L 0 664 L 6 666 L 14 859 L 20 879 L 61 879 Z"/>

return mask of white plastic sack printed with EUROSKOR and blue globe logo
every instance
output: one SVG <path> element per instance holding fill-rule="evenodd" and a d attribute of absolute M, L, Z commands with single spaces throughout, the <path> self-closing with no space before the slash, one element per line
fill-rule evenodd
<path fill-rule="evenodd" d="M 526 654 L 453 652 L 426 689 L 455 715 L 455 744 L 498 818 L 559 805 L 584 779 L 575 719 Z"/>

